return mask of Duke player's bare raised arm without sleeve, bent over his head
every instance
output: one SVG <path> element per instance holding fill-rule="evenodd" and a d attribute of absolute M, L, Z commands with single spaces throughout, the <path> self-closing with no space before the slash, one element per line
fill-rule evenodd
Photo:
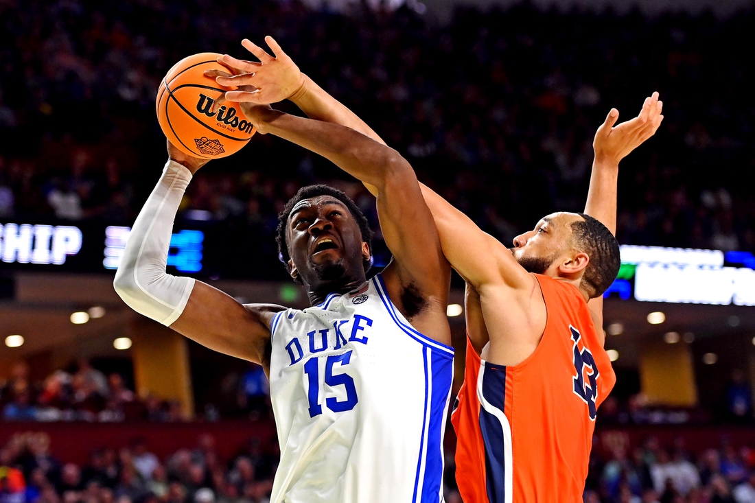
<path fill-rule="evenodd" d="M 448 332 L 445 304 L 451 269 L 411 165 L 396 150 L 345 126 L 291 116 L 268 106 L 247 105 L 244 113 L 261 134 L 275 134 L 319 153 L 376 187 L 381 229 L 396 259 L 393 267 L 401 285 L 423 299 L 421 310 L 432 305 L 433 313 L 442 312 L 442 325 Z M 450 339 L 450 333 L 442 338 Z"/>

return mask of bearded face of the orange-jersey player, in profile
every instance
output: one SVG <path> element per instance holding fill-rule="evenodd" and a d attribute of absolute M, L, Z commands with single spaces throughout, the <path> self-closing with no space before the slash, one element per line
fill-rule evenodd
<path fill-rule="evenodd" d="M 547 274 L 562 255 L 570 252 L 572 223 L 578 220 L 582 218 L 576 213 L 549 214 L 535 229 L 514 238 L 511 253 L 530 273 Z"/>

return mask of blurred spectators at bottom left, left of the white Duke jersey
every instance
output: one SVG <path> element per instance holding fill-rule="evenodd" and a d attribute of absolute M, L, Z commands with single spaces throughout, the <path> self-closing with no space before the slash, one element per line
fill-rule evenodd
<path fill-rule="evenodd" d="M 0 446 L 0 503 L 267 503 L 276 464 L 260 440 L 224 460 L 202 435 L 165 459 L 137 437 L 79 465 L 52 455 L 47 434 L 17 434 Z"/>

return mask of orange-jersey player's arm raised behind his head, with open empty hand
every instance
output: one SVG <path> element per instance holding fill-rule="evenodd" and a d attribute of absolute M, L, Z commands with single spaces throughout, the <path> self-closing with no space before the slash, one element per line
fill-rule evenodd
<path fill-rule="evenodd" d="M 616 125 L 618 110 L 614 108 L 596 131 L 595 159 L 584 213 L 596 218 L 613 234 L 616 233 L 618 163 L 658 131 L 663 121 L 662 108 L 663 102 L 655 92 L 646 98 L 643 109 L 633 119 Z M 602 296 L 590 299 L 588 304 L 596 326 L 602 326 Z"/>

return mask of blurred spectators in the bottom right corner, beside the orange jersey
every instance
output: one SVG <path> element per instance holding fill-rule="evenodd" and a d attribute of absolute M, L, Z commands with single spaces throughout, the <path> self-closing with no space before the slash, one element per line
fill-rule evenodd
<path fill-rule="evenodd" d="M 753 503 L 755 450 L 732 446 L 692 455 L 681 438 L 662 446 L 648 437 L 631 452 L 618 443 L 590 459 L 585 503 Z"/>

